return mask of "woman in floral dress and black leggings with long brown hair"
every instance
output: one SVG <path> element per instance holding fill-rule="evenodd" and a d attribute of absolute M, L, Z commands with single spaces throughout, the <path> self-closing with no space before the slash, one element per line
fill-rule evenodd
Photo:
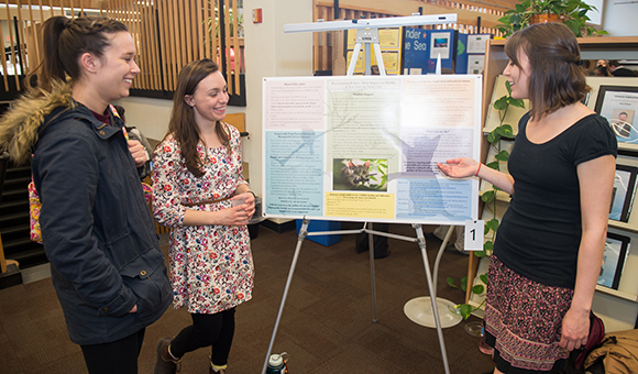
<path fill-rule="evenodd" d="M 193 324 L 157 343 L 155 373 L 175 373 L 184 354 L 212 346 L 210 373 L 223 373 L 234 308 L 252 297 L 246 223 L 254 194 L 241 175 L 235 128 L 222 122 L 227 84 L 216 63 L 199 59 L 179 74 L 168 133 L 154 155 L 153 212 L 172 228 L 174 307 Z"/>

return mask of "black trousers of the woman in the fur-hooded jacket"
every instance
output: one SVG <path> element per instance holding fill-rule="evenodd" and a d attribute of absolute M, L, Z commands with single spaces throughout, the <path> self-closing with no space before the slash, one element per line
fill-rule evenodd
<path fill-rule="evenodd" d="M 80 345 L 90 374 L 138 374 L 138 356 L 144 341 L 142 329 L 127 338 L 102 344 Z"/>

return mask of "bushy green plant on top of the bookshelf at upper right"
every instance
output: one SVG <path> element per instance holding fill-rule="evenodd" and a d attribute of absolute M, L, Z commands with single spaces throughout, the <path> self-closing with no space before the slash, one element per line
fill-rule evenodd
<path fill-rule="evenodd" d="M 607 34 L 586 24 L 588 11 L 597 11 L 583 0 L 522 0 L 515 9 L 505 12 L 496 29 L 505 37 L 534 23 L 563 22 L 578 37 Z"/>

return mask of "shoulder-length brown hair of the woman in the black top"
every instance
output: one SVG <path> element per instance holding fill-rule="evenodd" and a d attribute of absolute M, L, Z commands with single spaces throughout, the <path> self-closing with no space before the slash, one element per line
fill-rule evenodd
<path fill-rule="evenodd" d="M 529 58 L 531 117 L 540 119 L 584 99 L 590 91 L 574 33 L 562 23 L 530 25 L 505 43 L 505 54 L 520 65 L 520 53 Z"/>

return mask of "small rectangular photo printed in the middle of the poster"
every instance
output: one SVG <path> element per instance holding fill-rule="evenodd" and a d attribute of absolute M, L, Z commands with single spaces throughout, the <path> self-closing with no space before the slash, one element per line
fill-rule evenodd
<path fill-rule="evenodd" d="M 334 190 L 387 191 L 387 160 L 334 158 Z"/>

